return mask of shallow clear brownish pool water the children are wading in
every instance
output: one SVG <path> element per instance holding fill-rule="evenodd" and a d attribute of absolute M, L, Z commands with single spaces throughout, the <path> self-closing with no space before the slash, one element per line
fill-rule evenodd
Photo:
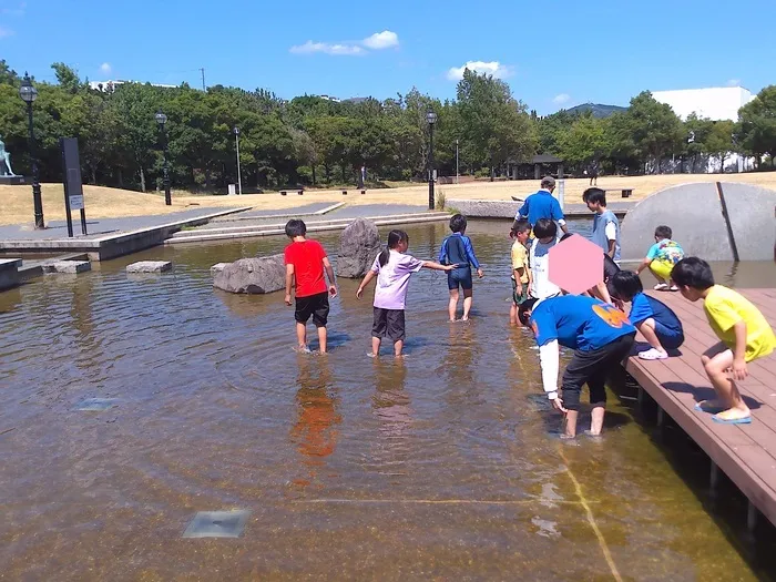
<path fill-rule="evenodd" d="M 430 258 L 446 228 L 409 233 Z M 776 545 L 752 553 L 739 507 L 706 509 L 703 456 L 666 455 L 614 395 L 602 442 L 561 445 L 533 340 L 508 325 L 504 224 L 470 234 L 486 268 L 471 323 L 446 321 L 442 274 L 415 275 L 404 361 L 365 356 L 358 282 L 339 282 L 325 357 L 293 351 L 282 294 L 213 289 L 211 265 L 282 238 L 159 247 L 0 294 L 3 575 L 767 579 Z M 337 236 L 320 237 L 333 254 Z M 174 273 L 124 274 L 152 258 Z M 772 264 L 716 268 L 776 287 Z M 75 410 L 86 398 L 115 402 Z M 239 539 L 182 539 L 197 511 L 232 509 L 251 511 Z"/>

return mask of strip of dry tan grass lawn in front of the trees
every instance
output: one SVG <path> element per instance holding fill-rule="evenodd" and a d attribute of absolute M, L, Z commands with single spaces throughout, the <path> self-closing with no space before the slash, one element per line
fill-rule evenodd
<path fill-rule="evenodd" d="M 776 190 L 776 172 L 752 174 L 668 174 L 658 176 L 599 178 L 602 187 L 632 187 L 630 200 L 643 200 L 650 194 L 676 184 L 688 182 L 744 182 Z M 510 196 L 524 197 L 535 192 L 538 181 L 520 182 L 476 182 L 460 185 L 438 185 L 437 191 L 445 192 L 451 198 L 509 200 Z M 588 180 L 566 180 L 565 200 L 568 203 L 581 202 L 582 192 L 588 187 Z M 251 194 L 245 196 L 193 196 L 187 193 L 173 192 L 173 205 L 164 205 L 164 196 L 141 194 L 102 186 L 84 186 L 86 216 L 92 218 L 115 218 L 139 216 L 143 214 L 166 214 L 185 208 L 213 206 L 252 206 L 254 208 L 286 210 L 313 202 L 347 202 L 348 204 L 428 204 L 428 186 L 402 186 L 387 190 L 370 190 L 361 196 L 355 188 L 343 196 L 339 190 L 306 191 L 304 196 L 289 192 L 287 196 L 278 193 Z M 62 185 L 43 184 L 43 213 L 47 221 L 64 219 L 64 197 Z M 612 201 L 619 201 L 614 195 Z M 0 186 L 0 224 L 24 224 L 33 219 L 32 192 L 30 186 Z"/>

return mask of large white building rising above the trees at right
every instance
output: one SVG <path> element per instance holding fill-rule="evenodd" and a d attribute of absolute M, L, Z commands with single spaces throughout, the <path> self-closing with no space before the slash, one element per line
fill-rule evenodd
<path fill-rule="evenodd" d="M 671 105 L 682 121 L 693 112 L 698 118 L 712 121 L 738 121 L 738 110 L 754 99 L 749 90 L 743 86 L 653 91 L 652 96 L 655 101 Z"/>

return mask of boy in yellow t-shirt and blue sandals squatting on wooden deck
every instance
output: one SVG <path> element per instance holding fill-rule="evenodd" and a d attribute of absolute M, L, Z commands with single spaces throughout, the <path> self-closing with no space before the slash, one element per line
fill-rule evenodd
<path fill-rule="evenodd" d="M 685 299 L 703 299 L 703 310 L 722 341 L 707 349 L 701 361 L 717 392 L 716 400 L 704 400 L 696 410 L 712 412 L 712 420 L 726 425 L 752 422 L 749 408 L 735 380 L 749 372 L 746 364 L 774 350 L 776 337 L 763 314 L 743 295 L 714 284 L 708 263 L 697 257 L 683 258 L 671 272 Z M 733 378 L 728 377 L 728 372 Z"/>

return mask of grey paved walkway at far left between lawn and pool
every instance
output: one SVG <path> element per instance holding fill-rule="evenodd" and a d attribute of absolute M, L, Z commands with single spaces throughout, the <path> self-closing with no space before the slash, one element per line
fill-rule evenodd
<path fill-rule="evenodd" d="M 159 214 L 153 216 L 129 216 L 124 218 L 89 218 L 86 215 L 86 231 L 89 234 L 81 234 L 81 218 L 73 216 L 73 238 L 80 241 L 91 241 L 101 238 L 110 234 L 121 232 L 137 231 L 140 228 L 152 228 L 165 224 L 187 221 L 207 214 L 226 212 L 226 207 L 196 207 L 187 211 L 174 212 L 171 214 Z M 0 241 L 59 241 L 68 238 L 68 223 L 64 221 L 52 221 L 47 224 L 44 231 L 35 231 L 32 225 L 7 225 L 0 226 Z"/>

